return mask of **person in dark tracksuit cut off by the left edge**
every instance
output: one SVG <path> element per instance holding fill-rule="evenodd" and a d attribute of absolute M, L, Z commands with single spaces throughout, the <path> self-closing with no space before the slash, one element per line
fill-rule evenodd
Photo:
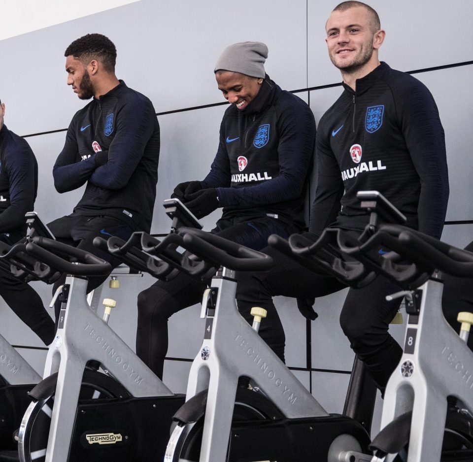
<path fill-rule="evenodd" d="M 26 235 L 25 213 L 34 210 L 38 164 L 26 140 L 6 128 L 4 115 L 0 101 L 0 241 L 12 245 Z M 0 296 L 45 345 L 53 341 L 54 321 L 33 288 L 1 272 Z"/>

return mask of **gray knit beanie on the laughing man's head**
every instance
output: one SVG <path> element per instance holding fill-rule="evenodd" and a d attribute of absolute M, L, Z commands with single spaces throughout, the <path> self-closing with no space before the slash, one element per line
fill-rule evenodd
<path fill-rule="evenodd" d="M 241 42 L 225 48 L 215 65 L 217 70 L 230 70 L 250 77 L 265 78 L 268 47 L 261 42 Z"/>

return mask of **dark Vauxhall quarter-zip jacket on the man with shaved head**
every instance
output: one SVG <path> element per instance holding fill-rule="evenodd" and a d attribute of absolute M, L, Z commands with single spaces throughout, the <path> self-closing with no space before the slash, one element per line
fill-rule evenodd
<path fill-rule="evenodd" d="M 363 230 L 369 215 L 356 193 L 376 190 L 405 214 L 407 226 L 439 238 L 449 187 L 444 132 L 431 93 L 386 63 L 358 79 L 355 92 L 343 86 L 317 128 L 310 230 L 320 235 L 331 224 Z"/>

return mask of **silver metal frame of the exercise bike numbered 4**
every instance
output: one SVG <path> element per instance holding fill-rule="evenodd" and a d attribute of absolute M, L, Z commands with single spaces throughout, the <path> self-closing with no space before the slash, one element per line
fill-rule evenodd
<path fill-rule="evenodd" d="M 329 415 L 238 313 L 235 293 L 235 271 L 223 268 L 203 296 L 205 335 L 186 394 L 189 400 L 208 389 L 200 462 L 226 460 L 240 376 L 249 377 L 287 418 Z"/>

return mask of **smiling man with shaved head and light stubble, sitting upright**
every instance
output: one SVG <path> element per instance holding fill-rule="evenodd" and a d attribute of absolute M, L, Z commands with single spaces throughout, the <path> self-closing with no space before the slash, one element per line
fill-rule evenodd
<path fill-rule="evenodd" d="M 385 37 L 379 17 L 358 1 L 340 3 L 327 24 L 332 63 L 340 69 L 343 93 L 322 116 L 317 128 L 317 186 L 310 215 L 315 240 L 327 227 L 354 237 L 369 222 L 360 209 L 358 191 L 377 190 L 407 217 L 407 226 L 439 238 L 449 187 L 444 132 L 434 98 L 414 77 L 379 62 Z M 382 249 L 379 249 L 382 251 Z M 270 329 L 282 356 L 284 331 L 272 297 L 311 299 L 336 292 L 343 284 L 311 272 L 271 248 L 267 273 L 241 273 L 237 287 L 240 310 L 261 306 L 270 313 Z M 400 290 L 378 276 L 363 289 L 350 289 L 340 324 L 351 347 L 381 391 L 398 365 L 402 348 L 389 334 L 400 300 L 385 297 Z"/>

